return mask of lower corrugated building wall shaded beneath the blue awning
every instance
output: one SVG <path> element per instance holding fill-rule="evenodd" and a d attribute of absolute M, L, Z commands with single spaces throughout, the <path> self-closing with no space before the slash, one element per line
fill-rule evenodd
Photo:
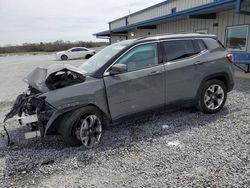
<path fill-rule="evenodd" d="M 243 9 L 250 11 L 250 6 L 245 6 Z M 214 26 L 218 23 L 218 27 Z M 155 30 L 131 30 L 128 32 L 128 38 L 138 38 L 147 36 L 149 33 L 163 34 L 163 33 L 181 33 L 181 32 L 195 32 L 197 30 L 208 29 L 209 34 L 215 34 L 219 40 L 225 44 L 225 33 L 228 26 L 233 25 L 250 25 L 250 16 L 235 13 L 235 10 L 228 10 L 217 13 L 216 19 L 185 19 L 172 21 L 157 25 Z M 132 36 L 134 35 L 134 36 Z M 248 51 L 250 51 L 250 34 L 248 37 Z"/>

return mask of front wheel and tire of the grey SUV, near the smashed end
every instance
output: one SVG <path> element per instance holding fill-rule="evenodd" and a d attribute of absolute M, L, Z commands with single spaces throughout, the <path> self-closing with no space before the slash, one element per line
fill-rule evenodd
<path fill-rule="evenodd" d="M 64 115 L 59 127 L 67 145 L 86 148 L 96 147 L 102 137 L 102 116 L 94 107 L 84 107 Z"/>

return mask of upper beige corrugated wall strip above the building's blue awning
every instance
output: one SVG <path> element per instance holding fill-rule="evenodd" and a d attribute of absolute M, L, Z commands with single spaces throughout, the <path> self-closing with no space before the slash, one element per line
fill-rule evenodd
<path fill-rule="evenodd" d="M 171 14 L 171 9 L 176 7 L 177 12 L 186 10 L 192 7 L 197 7 L 203 4 L 214 2 L 214 0 L 168 0 L 169 2 L 162 3 L 154 8 L 147 9 L 145 11 L 132 14 L 128 16 L 127 20 L 129 24 L 134 24 L 147 19 Z M 110 23 L 111 29 L 126 26 L 126 18 L 122 18 Z"/>

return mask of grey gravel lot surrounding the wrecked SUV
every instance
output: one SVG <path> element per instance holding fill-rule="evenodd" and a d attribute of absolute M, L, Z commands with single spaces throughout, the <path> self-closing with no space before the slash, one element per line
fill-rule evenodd
<path fill-rule="evenodd" d="M 0 57 L 0 121 L 25 89 L 20 79 L 53 62 Z M 250 187 L 249 114 L 250 79 L 236 79 L 218 114 L 181 109 L 141 117 L 106 129 L 92 150 L 65 147 L 55 136 L 24 140 L 25 127 L 12 123 L 15 144 L 0 141 L 0 187 Z"/>

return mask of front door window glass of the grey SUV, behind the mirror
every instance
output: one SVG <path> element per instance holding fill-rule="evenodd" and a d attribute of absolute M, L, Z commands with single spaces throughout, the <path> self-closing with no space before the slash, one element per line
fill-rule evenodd
<path fill-rule="evenodd" d="M 125 54 L 116 64 L 127 65 L 128 72 L 158 64 L 157 44 L 143 44 Z"/>

